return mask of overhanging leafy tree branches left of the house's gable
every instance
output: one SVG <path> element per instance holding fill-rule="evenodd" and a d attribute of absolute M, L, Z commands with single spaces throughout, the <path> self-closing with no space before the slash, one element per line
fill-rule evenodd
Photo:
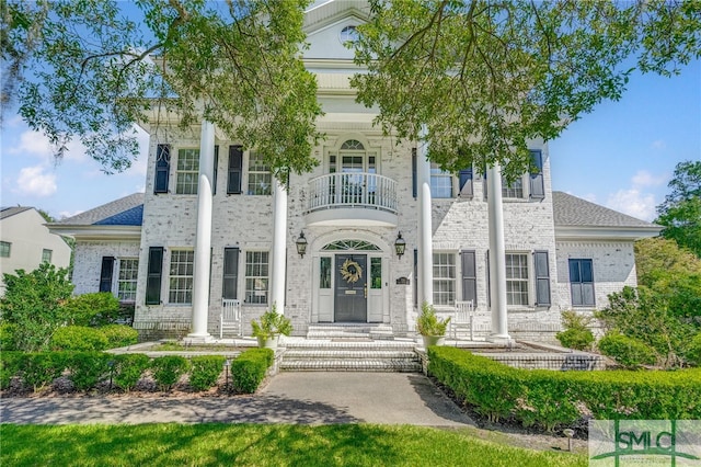
<path fill-rule="evenodd" d="M 285 182 L 290 170 L 317 163 L 321 109 L 300 60 L 307 3 L 3 1 L 11 82 L 2 100 L 16 88 L 20 114 L 58 157 L 79 138 L 106 172 L 129 167 L 138 153 L 135 123 L 157 115 L 164 128 L 166 117 L 181 127 L 206 118 L 255 147 Z"/>

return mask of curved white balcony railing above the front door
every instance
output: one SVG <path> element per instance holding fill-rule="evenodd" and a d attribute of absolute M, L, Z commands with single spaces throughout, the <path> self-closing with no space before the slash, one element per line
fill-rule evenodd
<path fill-rule="evenodd" d="M 359 207 L 397 214 L 397 182 L 376 173 L 330 173 L 309 182 L 309 212 Z"/>

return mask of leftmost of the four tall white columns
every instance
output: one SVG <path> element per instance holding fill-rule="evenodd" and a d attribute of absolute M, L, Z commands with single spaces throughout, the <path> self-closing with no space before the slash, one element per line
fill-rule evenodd
<path fill-rule="evenodd" d="M 191 340 L 210 340 L 207 332 L 209 316 L 209 257 L 211 254 L 211 183 L 215 172 L 215 126 L 203 121 L 199 144 L 199 181 L 197 184 L 197 232 L 193 286 L 193 328 Z"/>

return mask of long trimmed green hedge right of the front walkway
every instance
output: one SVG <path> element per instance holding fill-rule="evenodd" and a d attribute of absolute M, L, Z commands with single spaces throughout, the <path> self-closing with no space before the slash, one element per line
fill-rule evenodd
<path fill-rule="evenodd" d="M 585 415 L 611 419 L 701 418 L 701 369 L 553 372 L 513 368 L 444 346 L 428 349 L 428 372 L 478 413 L 514 417 L 547 430 Z"/>

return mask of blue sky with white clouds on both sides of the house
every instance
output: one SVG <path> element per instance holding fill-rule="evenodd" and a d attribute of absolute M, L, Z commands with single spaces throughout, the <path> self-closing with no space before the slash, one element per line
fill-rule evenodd
<path fill-rule="evenodd" d="M 635 75 L 550 143 L 553 189 L 652 220 L 675 166 L 701 159 L 701 62 L 680 76 Z M 2 127 L 2 206 L 35 206 L 57 218 L 143 191 L 148 135 L 131 169 L 106 175 L 79 144 L 56 163 L 45 137 L 8 112 Z"/>

